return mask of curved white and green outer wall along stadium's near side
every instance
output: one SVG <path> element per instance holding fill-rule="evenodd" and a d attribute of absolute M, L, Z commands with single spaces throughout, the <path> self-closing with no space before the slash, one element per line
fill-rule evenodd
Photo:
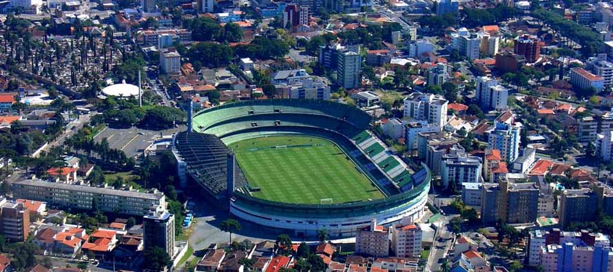
<path fill-rule="evenodd" d="M 429 175 L 428 175 L 429 176 Z M 237 194 L 230 200 L 230 213 L 238 218 L 260 224 L 273 229 L 287 229 L 294 232 L 296 236 L 315 236 L 319 230 L 326 229 L 331 236 L 353 237 L 357 231 L 368 227 L 372 220 L 377 220 L 377 224 L 391 224 L 402 218 L 412 218 L 417 220 L 424 215 L 426 202 L 428 202 L 428 191 L 430 190 L 430 178 L 424 180 L 411 191 L 406 197 L 406 201 L 393 202 L 395 205 L 375 205 L 371 208 L 371 202 L 364 202 L 359 205 L 352 205 L 351 212 L 343 214 L 342 205 L 331 205 L 337 207 L 337 212 L 329 216 L 304 216 L 300 210 L 300 205 L 296 208 L 287 209 L 286 212 L 277 212 L 274 209 L 262 209 L 254 207 L 252 202 L 240 201 L 244 198 Z M 405 193 L 402 193 L 404 195 Z M 253 199 L 251 199 L 253 201 Z M 267 205 L 271 205 L 267 203 Z M 280 203 L 279 205 L 284 206 Z M 324 205 L 322 205 L 324 206 Z M 362 206 L 356 207 L 356 206 Z M 325 212 L 322 210 L 322 213 Z"/>

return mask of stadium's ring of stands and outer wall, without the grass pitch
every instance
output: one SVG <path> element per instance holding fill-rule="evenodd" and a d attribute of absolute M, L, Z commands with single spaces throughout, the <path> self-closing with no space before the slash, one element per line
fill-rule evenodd
<path fill-rule="evenodd" d="M 409 167 L 393 155 L 370 132 L 371 116 L 355 107 L 298 99 L 245 101 L 190 114 L 189 122 L 188 131 L 174 140 L 174 153 L 182 165 L 180 176 L 183 171 L 184 179 L 194 180 L 209 199 L 238 218 L 298 236 L 326 229 L 331 236 L 349 237 L 372 220 L 390 224 L 406 217 L 415 220 L 424 213 L 430 170 L 425 165 Z M 228 146 L 250 138 L 286 135 L 331 140 L 385 198 L 312 205 L 252 196 Z"/>

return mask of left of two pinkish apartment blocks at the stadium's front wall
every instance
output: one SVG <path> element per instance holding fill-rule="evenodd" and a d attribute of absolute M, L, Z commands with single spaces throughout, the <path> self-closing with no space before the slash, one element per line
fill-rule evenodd
<path fill-rule="evenodd" d="M 355 236 L 355 253 L 373 257 L 387 257 L 389 255 L 390 238 L 388 229 L 377 226 L 373 220 L 367 229 L 357 231 Z"/>

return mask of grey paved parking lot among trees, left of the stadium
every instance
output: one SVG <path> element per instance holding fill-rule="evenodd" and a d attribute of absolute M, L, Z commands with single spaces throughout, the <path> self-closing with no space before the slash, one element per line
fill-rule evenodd
<path fill-rule="evenodd" d="M 157 138 L 172 135 L 185 129 L 184 125 L 165 130 L 139 129 L 138 127 L 127 129 L 107 127 L 98 133 L 94 140 L 96 143 L 99 143 L 103 138 L 107 138 L 112 149 L 121 149 L 125 152 L 126 156 L 132 157 L 136 154 L 141 154 L 143 149 L 151 145 Z"/>

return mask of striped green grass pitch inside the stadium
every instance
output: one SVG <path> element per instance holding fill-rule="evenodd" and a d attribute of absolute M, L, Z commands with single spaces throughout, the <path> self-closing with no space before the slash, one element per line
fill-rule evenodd
<path fill-rule="evenodd" d="M 287 145 L 287 148 L 274 148 Z M 302 146 L 296 146 L 302 145 Z M 304 146 L 308 145 L 308 146 Z M 329 140 L 309 136 L 269 136 L 230 145 L 253 196 L 288 203 L 320 204 L 382 198 L 344 152 Z"/>

